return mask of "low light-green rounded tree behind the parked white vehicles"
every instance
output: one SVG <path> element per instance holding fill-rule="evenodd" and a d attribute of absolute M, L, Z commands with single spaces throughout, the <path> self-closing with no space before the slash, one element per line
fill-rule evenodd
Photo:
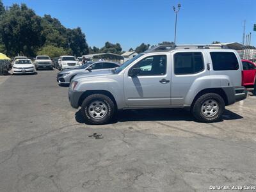
<path fill-rule="evenodd" d="M 40 51 L 38 51 L 36 54 L 47 55 L 50 58 L 57 58 L 57 57 L 60 57 L 61 55 L 67 55 L 69 53 L 62 47 L 54 47 L 52 45 L 46 45 L 45 47 L 42 47 L 42 49 L 40 49 Z"/>

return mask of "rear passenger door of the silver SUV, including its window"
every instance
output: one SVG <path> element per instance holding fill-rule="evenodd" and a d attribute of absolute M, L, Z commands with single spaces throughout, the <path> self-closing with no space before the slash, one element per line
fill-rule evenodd
<path fill-rule="evenodd" d="M 172 55 L 172 106 L 183 106 L 195 80 L 209 75 L 206 60 L 200 51 L 177 51 Z"/>

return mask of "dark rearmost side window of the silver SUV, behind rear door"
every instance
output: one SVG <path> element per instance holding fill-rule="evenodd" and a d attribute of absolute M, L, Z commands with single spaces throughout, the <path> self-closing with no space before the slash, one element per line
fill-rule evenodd
<path fill-rule="evenodd" d="M 210 52 L 213 70 L 237 70 L 239 64 L 234 52 Z"/>

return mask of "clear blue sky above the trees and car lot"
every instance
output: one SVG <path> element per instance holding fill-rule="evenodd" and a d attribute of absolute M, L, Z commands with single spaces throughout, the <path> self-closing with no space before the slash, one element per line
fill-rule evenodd
<path fill-rule="evenodd" d="M 256 45 L 256 0 L 3 0 L 4 6 L 26 3 L 37 15 L 49 14 L 66 28 L 80 27 L 90 46 L 105 42 L 120 43 L 124 51 L 141 43 L 156 45 L 174 41 L 175 13 L 172 6 L 181 4 L 177 17 L 176 44 L 211 44 L 243 41 L 252 32 Z"/>

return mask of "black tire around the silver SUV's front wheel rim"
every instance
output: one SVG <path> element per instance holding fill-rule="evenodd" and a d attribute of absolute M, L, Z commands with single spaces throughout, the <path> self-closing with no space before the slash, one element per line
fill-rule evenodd
<path fill-rule="evenodd" d="M 102 104 L 104 104 L 104 106 L 106 106 L 105 115 L 102 118 L 98 118 L 98 119 L 94 118 L 89 113 L 89 110 L 92 109 L 92 108 L 90 109 L 90 106 L 93 104 L 93 102 L 97 102 L 97 101 L 102 102 Z M 84 99 L 84 101 L 81 105 L 81 114 L 86 123 L 93 124 L 93 125 L 107 124 L 109 122 L 109 120 L 111 120 L 111 118 L 113 118 L 113 115 L 115 114 L 115 104 L 114 104 L 113 100 L 111 100 L 106 95 L 102 95 L 102 94 L 89 95 L 88 97 L 86 97 L 86 99 Z"/>

